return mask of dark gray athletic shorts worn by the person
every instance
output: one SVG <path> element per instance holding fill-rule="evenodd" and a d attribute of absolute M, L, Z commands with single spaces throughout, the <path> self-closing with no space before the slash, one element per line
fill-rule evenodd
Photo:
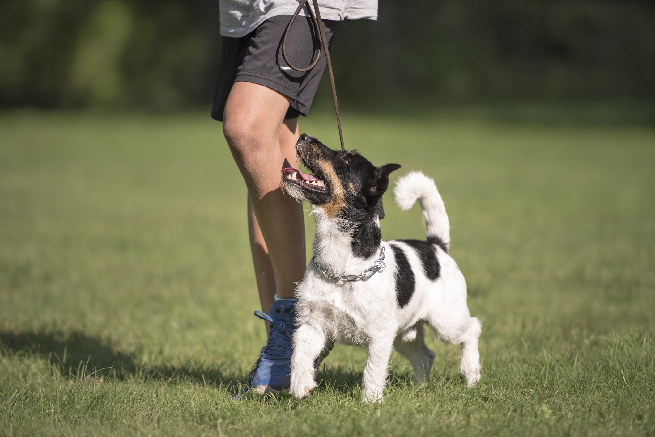
<path fill-rule="evenodd" d="M 293 100 L 284 118 L 307 116 L 314 100 L 326 60 L 321 58 L 310 71 L 282 69 L 288 67 L 282 58 L 282 39 L 291 19 L 290 15 L 269 18 L 257 29 L 240 38 L 221 37 L 221 67 L 214 92 L 212 118 L 223 121 L 223 110 L 232 84 L 238 81 L 253 82 L 276 90 Z M 339 22 L 323 20 L 327 41 Z M 295 67 L 307 67 L 312 61 L 320 37 L 309 17 L 299 16 L 293 22 L 286 44 L 286 53 Z"/>

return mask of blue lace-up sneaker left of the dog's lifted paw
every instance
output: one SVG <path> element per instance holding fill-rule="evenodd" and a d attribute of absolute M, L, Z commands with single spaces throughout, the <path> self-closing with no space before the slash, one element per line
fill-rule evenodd
<path fill-rule="evenodd" d="M 261 349 L 255 368 L 248 376 L 244 391 L 263 395 L 286 391 L 291 385 L 291 336 L 295 330 L 295 302 L 277 300 L 271 306 L 271 316 L 255 311 L 259 319 L 269 321 L 269 340 Z"/>

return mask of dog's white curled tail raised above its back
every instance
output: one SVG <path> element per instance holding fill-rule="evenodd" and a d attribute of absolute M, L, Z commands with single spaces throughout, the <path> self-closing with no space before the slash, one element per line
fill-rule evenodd
<path fill-rule="evenodd" d="M 421 171 L 411 171 L 398 179 L 394 194 L 396 194 L 396 203 L 403 211 L 410 209 L 414 202 L 419 200 L 428 241 L 440 245 L 441 249 L 448 252 L 450 223 L 434 179 L 427 177 Z"/>

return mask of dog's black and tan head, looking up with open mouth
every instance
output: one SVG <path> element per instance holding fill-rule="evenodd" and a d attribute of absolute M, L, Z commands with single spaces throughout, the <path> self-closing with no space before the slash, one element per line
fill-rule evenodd
<path fill-rule="evenodd" d="M 309 201 L 328 218 L 384 217 L 381 198 L 389 173 L 400 168 L 398 164 L 375 167 L 354 150 L 331 150 L 306 133 L 300 135 L 295 151 L 313 174 L 282 169 L 282 189 L 288 194 Z"/>

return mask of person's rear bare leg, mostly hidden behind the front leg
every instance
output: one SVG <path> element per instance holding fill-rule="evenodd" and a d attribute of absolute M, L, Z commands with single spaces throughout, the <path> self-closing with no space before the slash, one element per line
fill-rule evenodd
<path fill-rule="evenodd" d="M 298 136 L 298 119 L 288 118 L 282 123 L 280 128 L 280 147 L 284 156 L 290 162 L 291 166 L 299 166 L 297 156 L 295 153 L 295 143 Z M 257 280 L 257 290 L 259 290 L 259 302 L 261 303 L 261 310 L 265 313 L 269 311 L 275 298 L 275 275 L 273 273 L 273 266 L 271 263 L 271 256 L 267 248 L 264 237 L 259 229 L 257 217 L 250 204 L 250 196 L 248 196 L 248 234 L 250 236 L 250 250 L 252 251 L 252 260 L 255 266 L 255 279 Z M 305 232 L 301 238 L 305 239 Z M 266 321 L 266 328 L 268 330 L 269 323 Z"/>

